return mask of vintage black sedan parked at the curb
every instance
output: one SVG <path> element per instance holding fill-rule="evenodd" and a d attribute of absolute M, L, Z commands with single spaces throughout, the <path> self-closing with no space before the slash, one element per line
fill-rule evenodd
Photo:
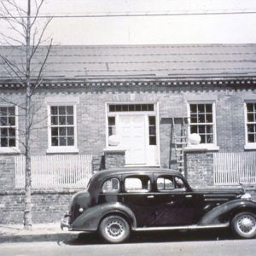
<path fill-rule="evenodd" d="M 156 168 L 97 172 L 61 219 L 62 230 L 97 231 L 113 243 L 131 230 L 226 227 L 256 236 L 256 202 L 244 189 L 192 189 L 180 172 Z"/>

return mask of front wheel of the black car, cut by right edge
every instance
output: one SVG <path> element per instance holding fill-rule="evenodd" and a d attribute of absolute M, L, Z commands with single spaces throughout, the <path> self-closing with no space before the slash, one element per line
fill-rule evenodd
<path fill-rule="evenodd" d="M 256 236 L 256 215 L 252 212 L 240 212 L 232 219 L 232 230 L 240 238 Z"/>

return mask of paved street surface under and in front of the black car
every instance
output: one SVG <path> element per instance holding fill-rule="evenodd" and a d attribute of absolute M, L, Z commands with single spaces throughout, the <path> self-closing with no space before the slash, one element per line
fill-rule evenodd
<path fill-rule="evenodd" d="M 103 243 L 98 236 L 86 234 L 73 241 L 3 243 L 1 256 L 170 256 L 214 255 L 252 256 L 256 240 L 235 240 L 229 232 L 151 232 L 133 234 L 124 244 Z"/>

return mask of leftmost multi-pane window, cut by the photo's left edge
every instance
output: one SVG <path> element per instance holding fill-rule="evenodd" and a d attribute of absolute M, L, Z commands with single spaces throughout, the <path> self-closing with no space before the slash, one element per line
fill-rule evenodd
<path fill-rule="evenodd" d="M 0 147 L 15 148 L 17 145 L 16 108 L 0 107 Z"/>

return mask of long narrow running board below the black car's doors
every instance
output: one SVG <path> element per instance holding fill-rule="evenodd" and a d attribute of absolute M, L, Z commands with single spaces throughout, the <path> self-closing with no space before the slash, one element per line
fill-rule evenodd
<path fill-rule="evenodd" d="M 229 227 L 229 223 L 225 224 L 211 224 L 211 225 L 188 225 L 176 227 L 143 227 L 133 229 L 134 231 L 157 231 L 157 230 L 205 230 L 205 229 L 222 229 Z"/>

